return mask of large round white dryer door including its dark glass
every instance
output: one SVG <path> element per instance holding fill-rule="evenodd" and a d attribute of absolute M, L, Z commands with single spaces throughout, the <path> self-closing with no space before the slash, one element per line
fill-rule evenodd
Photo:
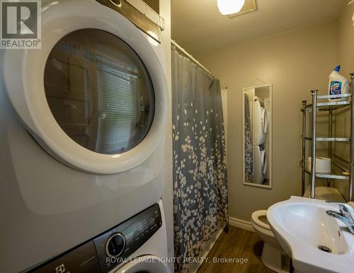
<path fill-rule="evenodd" d="M 8 98 L 59 161 L 98 174 L 134 168 L 164 136 L 167 87 L 153 47 L 107 6 L 54 1 L 42 8 L 42 49 L 5 52 Z"/>

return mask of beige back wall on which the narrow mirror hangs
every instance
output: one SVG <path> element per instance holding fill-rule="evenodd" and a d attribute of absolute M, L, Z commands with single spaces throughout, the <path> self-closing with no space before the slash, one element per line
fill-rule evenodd
<path fill-rule="evenodd" d="M 193 52 L 228 88 L 228 174 L 231 217 L 251 213 L 301 194 L 301 101 L 310 90 L 325 93 L 336 65 L 336 22 L 273 37 Z M 242 88 L 259 79 L 273 84 L 273 189 L 242 184 Z M 258 81 L 259 82 L 259 81 Z"/>

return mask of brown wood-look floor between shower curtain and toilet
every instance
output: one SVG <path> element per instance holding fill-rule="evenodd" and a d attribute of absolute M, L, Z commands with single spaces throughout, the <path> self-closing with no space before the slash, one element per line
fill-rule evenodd
<path fill-rule="evenodd" d="M 261 262 L 262 247 L 261 238 L 256 233 L 229 226 L 229 233 L 219 236 L 198 273 L 273 273 Z M 224 258 L 234 260 L 225 262 Z M 248 259 L 248 262 L 242 264 L 237 258 Z"/>

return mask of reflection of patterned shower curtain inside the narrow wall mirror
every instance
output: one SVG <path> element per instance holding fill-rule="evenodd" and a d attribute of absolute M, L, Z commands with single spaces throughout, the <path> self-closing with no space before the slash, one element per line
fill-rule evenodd
<path fill-rule="evenodd" d="M 244 94 L 244 180 L 253 183 L 253 141 L 249 95 Z"/>

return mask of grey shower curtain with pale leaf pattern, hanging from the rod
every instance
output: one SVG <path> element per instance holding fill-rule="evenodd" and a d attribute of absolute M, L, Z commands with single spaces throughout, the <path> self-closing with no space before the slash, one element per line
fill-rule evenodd
<path fill-rule="evenodd" d="M 228 219 L 220 83 L 172 46 L 173 216 L 176 272 L 188 272 Z"/>

